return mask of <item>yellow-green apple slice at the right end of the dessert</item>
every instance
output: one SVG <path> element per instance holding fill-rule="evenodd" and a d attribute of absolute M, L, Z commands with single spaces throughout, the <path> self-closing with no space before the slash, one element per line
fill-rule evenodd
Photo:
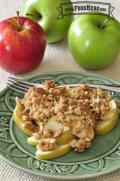
<path fill-rule="evenodd" d="M 119 112 L 114 100 L 110 101 L 110 111 L 106 113 L 97 124 L 95 132 L 98 135 L 110 132 L 117 124 Z"/>

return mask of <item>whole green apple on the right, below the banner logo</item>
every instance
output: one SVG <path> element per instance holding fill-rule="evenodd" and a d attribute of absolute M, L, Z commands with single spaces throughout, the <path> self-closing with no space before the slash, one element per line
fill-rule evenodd
<path fill-rule="evenodd" d="M 107 17 L 80 15 L 70 26 L 69 48 L 76 62 L 84 68 L 105 68 L 120 52 L 120 23 L 110 17 L 105 27 L 100 28 Z"/>

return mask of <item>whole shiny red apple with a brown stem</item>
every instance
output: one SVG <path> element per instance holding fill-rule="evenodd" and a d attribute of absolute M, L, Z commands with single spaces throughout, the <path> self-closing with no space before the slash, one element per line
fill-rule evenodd
<path fill-rule="evenodd" d="M 34 21 L 12 17 L 0 22 L 0 66 L 13 74 L 35 69 L 42 61 L 46 36 Z"/>

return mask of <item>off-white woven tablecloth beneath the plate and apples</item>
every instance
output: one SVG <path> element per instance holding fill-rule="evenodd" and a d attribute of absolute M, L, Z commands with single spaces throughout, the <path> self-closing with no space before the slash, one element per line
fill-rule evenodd
<path fill-rule="evenodd" d="M 51 0 L 52 1 L 52 0 Z M 77 0 L 73 0 L 77 1 Z M 96 0 L 97 1 L 97 0 Z M 114 17 L 120 21 L 120 0 L 102 0 L 109 2 L 115 7 L 113 12 Z M 10 16 L 15 16 L 16 10 L 21 9 L 23 0 L 0 0 L 0 20 Z M 78 71 L 86 72 L 79 65 L 77 65 L 71 56 L 67 47 L 67 41 L 61 41 L 57 44 L 47 45 L 47 50 L 44 60 L 41 65 L 31 73 L 26 75 L 17 76 L 20 78 L 28 78 L 40 73 L 55 72 L 55 71 Z M 114 80 L 120 81 L 120 56 L 116 59 L 115 63 L 110 67 L 100 71 L 89 71 L 105 75 Z M 0 90 L 6 86 L 7 78 L 11 74 L 0 68 Z M 12 75 L 13 76 L 13 75 Z M 0 159 L 0 181 L 46 181 L 46 179 L 28 174 L 19 169 L 16 169 Z M 86 181 L 120 181 L 120 171 L 115 171 L 109 175 L 97 177 L 94 179 L 87 179 Z"/>

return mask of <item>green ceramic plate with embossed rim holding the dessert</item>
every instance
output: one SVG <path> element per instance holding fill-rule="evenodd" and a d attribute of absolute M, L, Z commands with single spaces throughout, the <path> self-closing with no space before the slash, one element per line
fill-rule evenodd
<path fill-rule="evenodd" d="M 119 83 L 88 73 L 48 73 L 33 77 L 29 81 L 41 83 L 46 79 L 54 79 L 60 85 L 83 82 Z M 35 147 L 27 144 L 27 136 L 16 127 L 11 118 L 16 96 L 23 95 L 9 88 L 0 93 L 0 156 L 2 159 L 29 173 L 67 180 L 95 177 L 120 168 L 120 122 L 109 134 L 96 136 L 92 147 L 84 153 L 71 151 L 52 161 L 37 160 Z M 113 94 L 113 96 L 120 99 L 120 94 Z"/>

